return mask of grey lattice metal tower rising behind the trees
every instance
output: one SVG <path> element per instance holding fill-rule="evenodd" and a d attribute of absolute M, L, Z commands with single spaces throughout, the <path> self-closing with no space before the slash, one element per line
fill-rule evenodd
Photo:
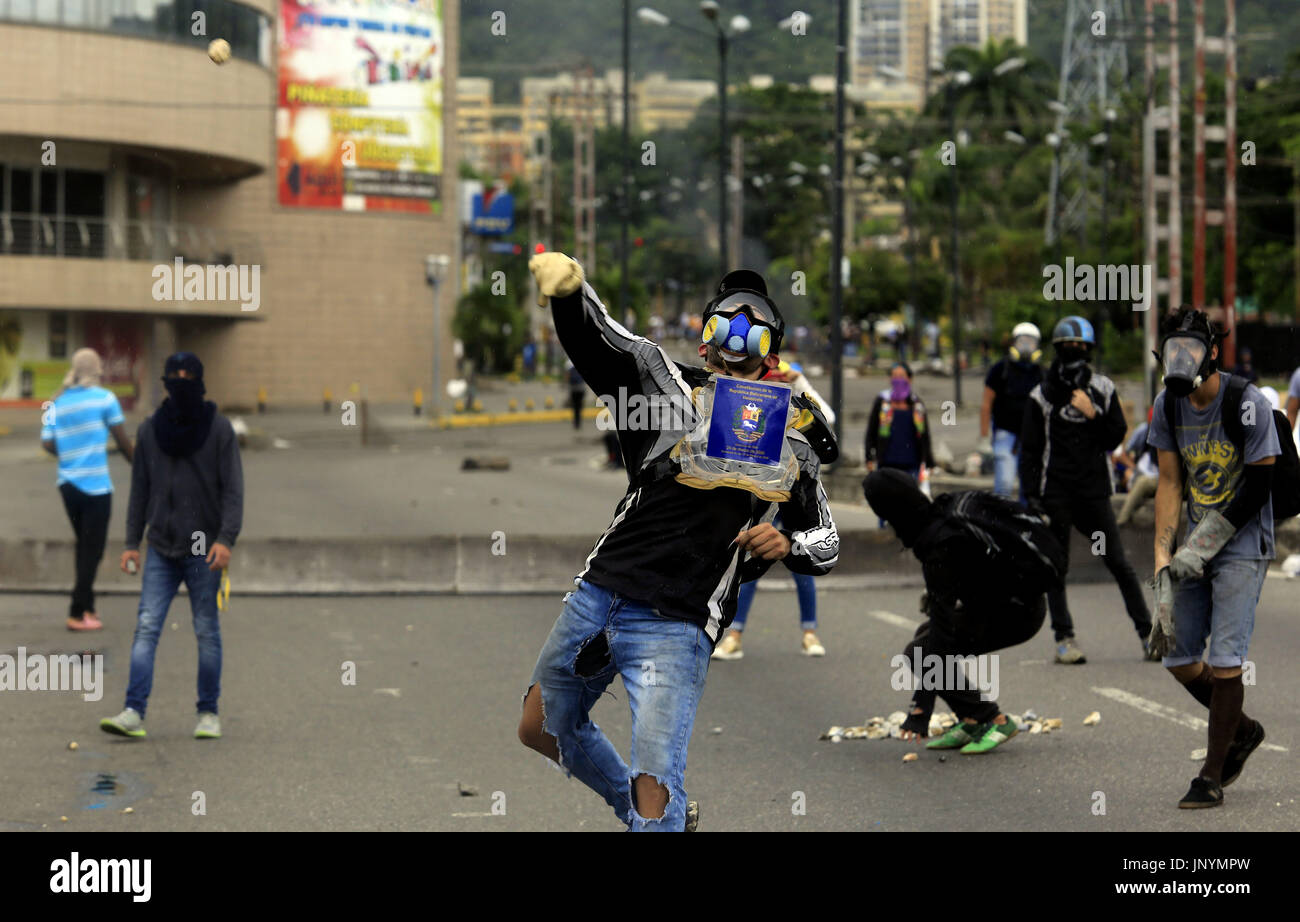
<path fill-rule="evenodd" d="M 1128 55 L 1121 30 L 1124 0 L 1069 0 L 1061 43 L 1061 86 L 1056 104 L 1056 133 L 1061 156 L 1052 164 L 1046 242 L 1071 231 L 1080 235 L 1088 216 L 1088 146 L 1082 134 L 1093 116 L 1105 116 L 1110 86 L 1128 78 Z M 1075 134 L 1071 134 L 1071 126 Z M 1060 215 L 1057 213 L 1060 211 Z"/>

